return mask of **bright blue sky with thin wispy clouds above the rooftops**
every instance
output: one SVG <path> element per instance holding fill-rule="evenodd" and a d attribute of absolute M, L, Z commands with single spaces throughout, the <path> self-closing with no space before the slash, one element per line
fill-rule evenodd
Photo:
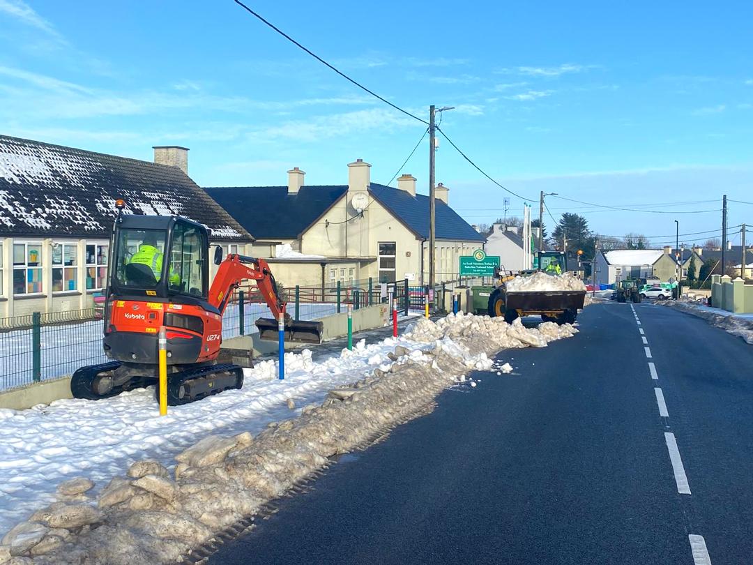
<path fill-rule="evenodd" d="M 753 202 L 749 2 L 250 5 L 422 118 L 456 106 L 443 129 L 518 194 L 672 212 L 550 197 L 555 217 L 663 243 L 675 218 L 683 234 L 721 230 L 721 194 Z M 357 157 L 386 183 L 424 130 L 231 0 L 0 0 L 0 133 L 146 160 L 185 145 L 212 186 L 285 184 L 291 166 L 344 184 Z M 422 192 L 427 153 L 424 141 L 404 170 Z M 471 223 L 502 214 L 506 194 L 444 140 L 437 181 Z M 714 211 L 679 213 L 700 210 Z M 730 202 L 730 225 L 742 221 L 753 205 Z"/>

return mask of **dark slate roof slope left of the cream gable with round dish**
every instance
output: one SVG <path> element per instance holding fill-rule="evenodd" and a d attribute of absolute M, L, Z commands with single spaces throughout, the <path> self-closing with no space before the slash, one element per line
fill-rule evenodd
<path fill-rule="evenodd" d="M 287 186 L 205 188 L 258 240 L 294 240 L 327 212 L 347 186 L 302 186 L 288 194 Z"/>

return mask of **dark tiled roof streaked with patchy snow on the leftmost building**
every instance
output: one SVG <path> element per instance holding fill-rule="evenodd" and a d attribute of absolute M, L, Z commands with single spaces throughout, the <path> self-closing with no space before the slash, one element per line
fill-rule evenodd
<path fill-rule="evenodd" d="M 129 214 L 205 224 L 213 240 L 252 239 L 178 167 L 0 136 L 0 236 L 109 237 L 118 198 Z"/>

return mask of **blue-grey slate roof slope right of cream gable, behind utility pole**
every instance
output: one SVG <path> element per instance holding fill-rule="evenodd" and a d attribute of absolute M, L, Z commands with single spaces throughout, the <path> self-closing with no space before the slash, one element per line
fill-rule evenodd
<path fill-rule="evenodd" d="M 370 194 L 389 209 L 405 226 L 419 237 L 428 239 L 428 196 L 415 197 L 399 188 L 371 184 Z M 437 240 L 462 240 L 483 242 L 485 238 L 461 218 L 455 210 L 437 199 L 434 210 Z"/>

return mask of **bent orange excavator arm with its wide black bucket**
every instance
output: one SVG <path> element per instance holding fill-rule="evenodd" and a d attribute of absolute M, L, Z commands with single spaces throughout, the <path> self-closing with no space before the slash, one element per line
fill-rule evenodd
<path fill-rule="evenodd" d="M 301 341 L 307 344 L 319 344 L 322 341 L 322 322 L 303 322 L 293 320 L 285 312 L 285 301 L 279 295 L 275 277 L 270 265 L 262 258 L 246 257 L 245 255 L 227 255 L 215 276 L 209 289 L 209 304 L 224 313 L 233 291 L 244 280 L 255 280 L 261 291 L 267 307 L 273 318 L 259 318 L 256 326 L 259 336 L 265 340 L 277 340 L 279 319 L 282 314 L 285 320 L 285 340 Z"/>

